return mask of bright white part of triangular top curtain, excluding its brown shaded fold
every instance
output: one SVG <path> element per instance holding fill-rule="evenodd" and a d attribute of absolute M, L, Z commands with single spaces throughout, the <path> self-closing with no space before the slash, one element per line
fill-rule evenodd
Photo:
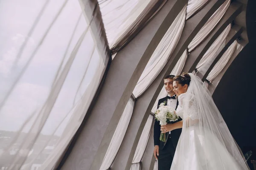
<path fill-rule="evenodd" d="M 110 48 L 128 36 L 131 26 L 140 23 L 147 14 L 145 9 L 155 3 L 155 0 L 99 0 Z"/>

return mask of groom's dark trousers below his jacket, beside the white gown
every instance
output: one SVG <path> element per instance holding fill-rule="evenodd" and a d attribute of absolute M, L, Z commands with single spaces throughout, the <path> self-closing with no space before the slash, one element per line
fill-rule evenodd
<path fill-rule="evenodd" d="M 163 150 L 159 150 L 158 170 L 170 170 L 174 154 L 175 147 L 173 146 L 172 138 L 169 138 Z"/>

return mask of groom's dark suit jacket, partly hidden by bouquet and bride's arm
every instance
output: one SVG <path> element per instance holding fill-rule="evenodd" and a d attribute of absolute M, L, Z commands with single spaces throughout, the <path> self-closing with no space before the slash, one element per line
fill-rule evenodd
<path fill-rule="evenodd" d="M 166 97 L 164 97 L 164 98 L 162 98 L 162 99 L 160 99 L 159 101 L 158 101 L 158 104 L 157 104 L 157 109 L 159 108 L 159 105 L 161 104 L 161 103 L 163 103 L 163 102 L 166 102 L 166 104 L 167 104 L 167 96 Z M 177 102 L 177 106 L 178 106 L 178 102 Z M 176 108 L 177 108 L 177 106 L 176 106 Z M 176 109 L 175 108 L 175 109 Z M 177 121 L 175 121 L 175 122 L 179 122 L 179 121 L 181 121 L 182 119 L 181 118 L 179 118 Z M 175 123 L 175 122 L 168 122 L 168 123 Z M 159 149 L 161 149 L 161 150 L 163 150 L 163 148 L 164 148 L 164 146 L 165 146 L 165 144 L 166 144 L 166 142 L 167 142 L 167 140 L 172 140 L 172 143 L 173 143 L 173 145 L 174 145 L 174 147 L 176 148 L 177 147 L 177 143 L 178 143 L 178 140 L 179 140 L 179 138 L 180 138 L 180 133 L 181 133 L 181 128 L 180 129 L 175 129 L 175 130 L 172 130 L 171 131 L 171 138 L 170 139 L 168 139 L 168 136 L 169 136 L 169 132 L 167 132 L 166 133 L 166 142 L 162 142 L 162 141 L 160 141 L 160 134 L 161 134 L 161 125 L 160 125 L 160 122 L 159 121 L 157 121 L 156 119 L 155 119 L 155 123 L 154 123 L 154 145 L 159 145 Z"/>

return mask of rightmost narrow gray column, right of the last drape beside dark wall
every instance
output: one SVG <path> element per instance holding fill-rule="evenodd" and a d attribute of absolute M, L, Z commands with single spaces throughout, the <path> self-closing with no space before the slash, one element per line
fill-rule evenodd
<path fill-rule="evenodd" d="M 246 34 L 246 33 L 245 33 Z M 246 40 L 240 40 L 239 44 L 244 46 L 247 45 L 248 41 Z M 211 94 L 214 93 L 216 87 L 218 86 L 218 82 L 221 81 L 224 73 L 227 71 L 227 69 L 230 67 L 230 65 L 232 64 L 232 62 L 234 61 L 234 59 L 236 58 L 236 56 L 240 53 L 241 49 L 236 49 L 236 51 L 234 51 L 232 57 L 230 58 L 230 60 L 227 62 L 227 65 L 225 65 L 225 67 L 221 70 L 221 72 L 218 74 L 218 76 L 212 80 L 212 82 L 209 83 L 208 85 L 208 89 L 210 91 Z"/>

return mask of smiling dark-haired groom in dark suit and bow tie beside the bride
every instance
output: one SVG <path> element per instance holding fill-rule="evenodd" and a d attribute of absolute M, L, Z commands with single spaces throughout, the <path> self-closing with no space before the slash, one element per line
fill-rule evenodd
<path fill-rule="evenodd" d="M 164 97 L 163 99 L 160 99 L 158 101 L 157 108 L 159 105 L 163 102 L 166 103 L 166 105 L 177 108 L 178 106 L 178 100 L 177 96 L 175 95 L 175 92 L 173 91 L 172 82 L 173 78 L 175 76 L 169 75 L 166 76 L 164 80 L 164 87 L 166 89 L 166 92 L 168 96 Z M 178 119 L 176 122 L 182 120 L 181 118 Z M 171 124 L 174 122 L 168 122 L 168 124 Z M 168 126 L 168 124 L 166 126 Z M 172 130 L 172 132 L 169 134 L 169 132 L 166 133 L 166 142 L 160 141 L 160 134 L 161 134 L 161 125 L 160 122 L 155 120 L 154 123 L 154 157 L 158 159 L 158 170 L 170 170 L 172 165 L 172 159 L 175 153 L 175 149 L 178 143 L 178 140 L 180 138 L 181 129 Z"/>

